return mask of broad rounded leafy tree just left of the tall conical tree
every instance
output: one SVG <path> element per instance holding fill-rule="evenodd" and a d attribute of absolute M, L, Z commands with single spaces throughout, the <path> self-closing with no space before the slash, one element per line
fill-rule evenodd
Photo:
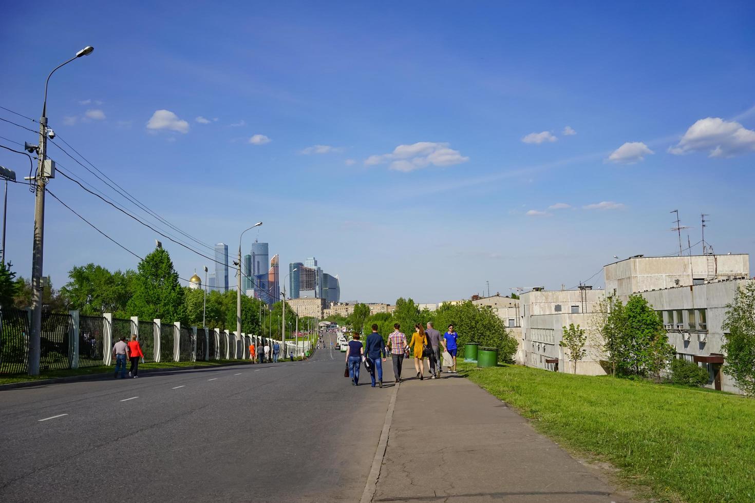
<path fill-rule="evenodd" d="M 117 317 L 125 317 L 134 275 L 134 271 L 111 273 L 93 263 L 76 265 L 68 271 L 69 281 L 60 293 L 68 299 L 70 309 L 78 309 L 87 316 L 115 313 Z"/>

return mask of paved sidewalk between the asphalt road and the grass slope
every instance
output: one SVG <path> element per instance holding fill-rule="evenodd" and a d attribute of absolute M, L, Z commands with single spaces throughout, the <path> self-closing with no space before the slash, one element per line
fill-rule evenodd
<path fill-rule="evenodd" d="M 473 382 L 402 382 L 372 501 L 501 500 L 632 501 Z"/>

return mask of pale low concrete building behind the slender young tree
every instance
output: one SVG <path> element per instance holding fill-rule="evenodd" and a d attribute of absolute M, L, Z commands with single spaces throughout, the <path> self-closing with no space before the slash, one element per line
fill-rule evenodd
<path fill-rule="evenodd" d="M 574 372 L 559 342 L 563 327 L 579 325 L 587 336 L 587 355 L 577 364 L 577 373 L 588 376 L 606 374 L 600 364 L 602 351 L 596 333 L 594 317 L 605 292 L 581 287 L 579 290 L 551 290 L 536 288 L 519 298 L 521 335 L 516 360 L 528 367 L 559 372 Z"/>

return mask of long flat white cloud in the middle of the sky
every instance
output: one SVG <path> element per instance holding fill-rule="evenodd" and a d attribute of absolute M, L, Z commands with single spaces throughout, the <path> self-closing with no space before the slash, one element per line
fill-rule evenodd
<path fill-rule="evenodd" d="M 413 171 L 421 167 L 453 166 L 469 161 L 458 150 L 448 147 L 448 143 L 418 142 L 411 145 L 399 145 L 390 154 L 370 155 L 365 159 L 365 166 L 389 164 L 391 170 Z"/>

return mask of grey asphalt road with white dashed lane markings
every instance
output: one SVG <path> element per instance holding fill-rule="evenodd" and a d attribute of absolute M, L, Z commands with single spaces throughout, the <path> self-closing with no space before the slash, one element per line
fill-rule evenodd
<path fill-rule="evenodd" d="M 0 501 L 359 501 L 391 388 L 343 370 L 325 349 L 0 391 Z"/>

